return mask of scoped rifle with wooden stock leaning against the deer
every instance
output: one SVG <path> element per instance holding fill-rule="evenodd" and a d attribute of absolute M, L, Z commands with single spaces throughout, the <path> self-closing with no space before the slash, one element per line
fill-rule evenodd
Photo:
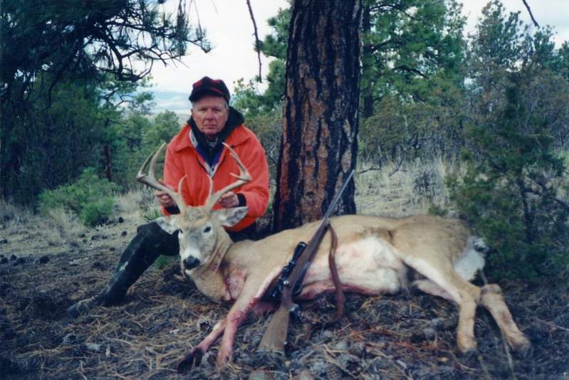
<path fill-rule="evenodd" d="M 348 179 L 346 179 L 342 185 L 342 189 L 340 189 L 338 194 L 336 194 L 332 200 L 332 203 L 330 203 L 330 206 L 324 214 L 324 218 L 320 222 L 320 226 L 318 226 L 314 236 L 310 238 L 308 243 L 301 241 L 298 243 L 298 246 L 296 246 L 295 258 L 293 258 L 293 260 L 296 261 L 296 265 L 294 265 L 294 268 L 288 274 L 288 278 L 283 280 L 281 284 L 281 305 L 278 307 L 278 310 L 274 313 L 271 322 L 268 324 L 265 334 L 263 335 L 263 339 L 261 339 L 261 343 L 259 344 L 260 350 L 284 353 L 286 334 L 288 332 L 288 321 L 290 319 L 291 312 L 296 312 L 298 309 L 298 305 L 296 305 L 292 300 L 293 295 L 295 295 L 295 292 L 300 292 L 300 285 L 306 270 L 308 270 L 308 266 L 310 266 L 310 261 L 313 260 L 314 255 L 318 251 L 318 247 L 330 226 L 330 214 L 334 211 L 336 204 L 338 204 L 338 201 L 340 200 L 340 196 L 342 196 L 346 186 L 348 186 L 353 174 L 354 171 L 351 171 Z M 297 256 L 298 258 L 296 258 Z"/>

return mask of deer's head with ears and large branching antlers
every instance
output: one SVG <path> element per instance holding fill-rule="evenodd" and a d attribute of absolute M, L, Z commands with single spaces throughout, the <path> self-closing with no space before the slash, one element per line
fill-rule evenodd
<path fill-rule="evenodd" d="M 157 157 L 164 146 L 165 144 L 162 144 L 155 154 L 150 154 L 138 171 L 136 179 L 152 189 L 165 191 L 178 206 L 179 214 L 158 218 L 156 222 L 168 233 L 178 233 L 182 275 L 187 273 L 191 275 L 199 268 L 216 271 L 232 244 L 224 227 L 234 226 L 241 221 L 249 208 L 246 206 L 219 210 L 213 208 L 221 196 L 251 181 L 251 175 L 236 152 L 224 143 L 231 157 L 239 165 L 239 174 L 231 173 L 237 180 L 214 193 L 213 181 L 209 177 L 209 197 L 206 203 L 203 206 L 187 206 L 182 198 L 182 184 L 186 179 L 185 176 L 179 180 L 177 192 L 160 184 L 155 177 Z"/>

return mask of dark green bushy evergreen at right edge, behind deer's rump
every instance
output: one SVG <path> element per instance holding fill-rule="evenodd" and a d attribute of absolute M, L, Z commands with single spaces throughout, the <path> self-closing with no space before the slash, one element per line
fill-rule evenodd
<path fill-rule="evenodd" d="M 466 175 L 447 182 L 461 214 L 491 246 L 489 269 L 499 278 L 530 280 L 569 264 L 565 163 L 549 121 L 526 106 L 528 88 L 514 77 L 494 120 L 469 127 L 474 152 L 463 154 Z"/>

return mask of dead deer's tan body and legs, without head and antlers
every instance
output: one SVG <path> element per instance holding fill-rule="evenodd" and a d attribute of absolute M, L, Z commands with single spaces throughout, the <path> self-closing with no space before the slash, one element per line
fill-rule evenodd
<path fill-rule="evenodd" d="M 380 218 L 339 216 L 331 218 L 338 234 L 336 265 L 344 290 L 367 295 L 395 293 L 417 286 L 432 295 L 447 298 L 459 306 L 457 342 L 461 352 L 476 349 L 474 317 L 476 306 L 489 307 L 498 326 L 513 349 L 526 351 L 529 342 L 516 327 L 497 285 L 479 288 L 468 281 L 484 267 L 484 258 L 476 250 L 476 238 L 470 236 L 461 221 L 437 216 Z M 217 302 L 229 300 L 233 307 L 206 339 L 192 351 L 205 352 L 225 329 L 218 364 L 231 357 L 235 333 L 249 312 L 266 310 L 261 297 L 278 276 L 299 241 L 308 241 L 318 223 L 282 231 L 261 241 L 241 241 L 229 246 L 218 273 L 207 262 L 187 274 L 205 295 Z M 224 231 L 217 238 L 229 239 Z M 325 238 L 315 260 L 303 279 L 299 296 L 310 300 L 334 285 L 328 267 L 330 241 Z M 215 280 L 213 280 L 215 278 Z M 210 288 L 224 289 L 220 299 Z M 490 294 L 484 296 L 483 294 Z M 482 299 L 484 298 L 484 299 Z M 492 300 L 492 304 L 490 304 Z"/>

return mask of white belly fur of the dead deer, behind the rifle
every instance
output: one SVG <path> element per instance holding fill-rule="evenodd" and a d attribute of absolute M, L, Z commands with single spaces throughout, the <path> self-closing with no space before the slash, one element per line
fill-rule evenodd
<path fill-rule="evenodd" d="M 336 250 L 335 259 L 344 290 L 377 295 L 407 287 L 407 267 L 381 238 L 368 237 L 343 244 Z M 300 297 L 311 299 L 333 289 L 328 254 L 318 255 L 308 268 Z"/>

